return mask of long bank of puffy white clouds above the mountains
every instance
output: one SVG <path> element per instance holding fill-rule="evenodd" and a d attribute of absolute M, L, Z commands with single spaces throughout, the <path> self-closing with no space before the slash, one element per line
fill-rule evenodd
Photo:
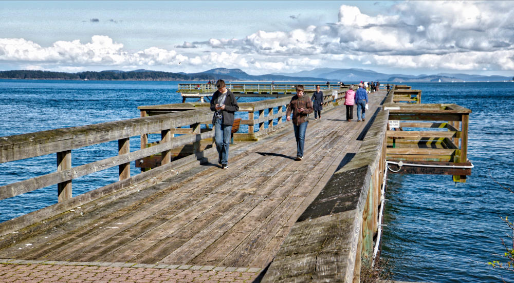
<path fill-rule="evenodd" d="M 149 47 L 128 52 L 105 35 L 94 35 L 88 43 L 58 41 L 49 47 L 23 38 L 0 38 L 0 62 L 23 62 L 34 69 L 43 66 L 39 63 L 68 70 L 226 67 L 260 74 L 363 65 L 514 70 L 514 6 L 509 2 L 399 2 L 387 13 L 371 16 L 341 5 L 336 23 L 183 42 L 175 50 Z M 179 65 L 182 69 L 173 69 Z"/>

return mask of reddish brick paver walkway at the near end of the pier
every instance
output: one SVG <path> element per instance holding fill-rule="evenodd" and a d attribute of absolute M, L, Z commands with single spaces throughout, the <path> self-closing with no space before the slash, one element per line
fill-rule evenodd
<path fill-rule="evenodd" d="M 2 283 L 249 283 L 253 282 L 261 271 L 259 268 L 0 259 Z"/>

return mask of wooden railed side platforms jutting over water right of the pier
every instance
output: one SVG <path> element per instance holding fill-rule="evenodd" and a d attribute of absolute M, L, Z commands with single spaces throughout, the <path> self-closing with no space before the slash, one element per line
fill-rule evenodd
<path fill-rule="evenodd" d="M 393 172 L 447 174 L 465 182 L 472 168 L 467 159 L 471 110 L 455 104 L 419 104 L 420 90 L 394 86 L 391 93 L 384 109 L 390 111 L 387 160 L 395 164 Z M 398 166 L 400 161 L 407 166 Z"/>

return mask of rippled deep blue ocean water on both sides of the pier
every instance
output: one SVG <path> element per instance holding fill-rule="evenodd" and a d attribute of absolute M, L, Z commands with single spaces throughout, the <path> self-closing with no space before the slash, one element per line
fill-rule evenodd
<path fill-rule="evenodd" d="M 138 106 L 179 103 L 180 82 L 0 79 L 0 136 L 139 117 Z M 382 257 L 394 279 L 424 282 L 514 282 L 514 272 L 485 262 L 501 257 L 500 237 L 514 218 L 514 83 L 411 83 L 423 103 L 471 109 L 464 184 L 451 176 L 389 174 Z M 241 98 L 240 102 L 258 100 Z M 158 139 L 158 137 L 157 137 Z M 139 138 L 130 140 L 131 151 Z M 117 142 L 72 151 L 78 166 L 117 154 Z M 131 166 L 131 174 L 139 169 Z M 56 170 L 54 154 L 0 164 L 0 186 Z M 116 181 L 116 167 L 73 181 L 73 195 Z M 0 222 L 57 202 L 57 186 L 0 200 Z"/>

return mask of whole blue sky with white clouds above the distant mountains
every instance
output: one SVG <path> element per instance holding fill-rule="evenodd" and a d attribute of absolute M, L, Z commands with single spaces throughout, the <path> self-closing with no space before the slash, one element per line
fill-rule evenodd
<path fill-rule="evenodd" d="M 514 75 L 512 1 L 1 1 L 0 70 Z"/>

